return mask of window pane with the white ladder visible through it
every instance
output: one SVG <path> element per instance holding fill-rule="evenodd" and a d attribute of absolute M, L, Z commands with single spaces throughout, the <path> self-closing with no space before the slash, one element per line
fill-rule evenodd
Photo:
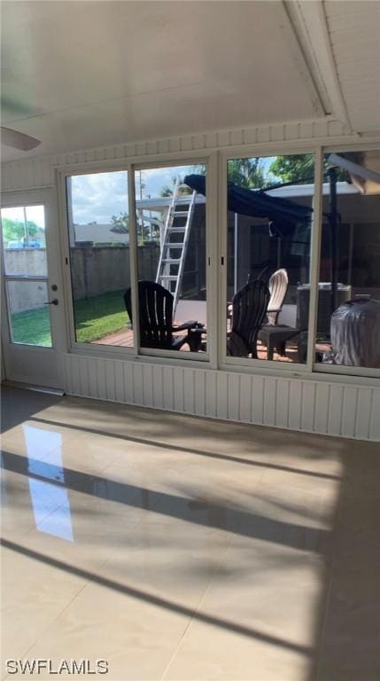
<path fill-rule="evenodd" d="M 144 169 L 135 182 L 141 346 L 204 353 L 206 167 Z"/>

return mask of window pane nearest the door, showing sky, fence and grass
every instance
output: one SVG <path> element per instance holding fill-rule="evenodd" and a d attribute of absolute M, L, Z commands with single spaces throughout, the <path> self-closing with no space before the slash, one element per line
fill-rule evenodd
<path fill-rule="evenodd" d="M 133 347 L 124 300 L 130 287 L 128 174 L 72 176 L 66 188 L 75 340 Z"/>

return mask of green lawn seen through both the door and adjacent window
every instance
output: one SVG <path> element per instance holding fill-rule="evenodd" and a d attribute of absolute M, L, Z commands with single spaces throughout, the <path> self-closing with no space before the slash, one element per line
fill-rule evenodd
<path fill-rule="evenodd" d="M 108 333 L 124 329 L 128 315 L 123 291 L 74 301 L 76 340 L 90 343 Z M 49 309 L 37 308 L 12 315 L 13 340 L 16 343 L 51 347 Z"/>

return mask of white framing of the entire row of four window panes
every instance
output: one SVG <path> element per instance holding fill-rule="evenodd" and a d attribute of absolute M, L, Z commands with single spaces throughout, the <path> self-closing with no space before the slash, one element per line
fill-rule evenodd
<path fill-rule="evenodd" d="M 58 186 L 58 215 L 61 225 L 61 257 L 64 270 L 64 292 L 66 327 L 69 330 L 69 348 L 71 352 L 88 356 L 103 356 L 129 361 L 143 361 L 151 364 L 174 365 L 189 368 L 212 369 L 228 372 L 244 372 L 267 375 L 277 378 L 281 376 L 301 378 L 303 380 L 332 381 L 356 385 L 376 385 L 380 377 L 380 369 L 350 367 L 314 363 L 314 346 L 316 335 L 316 316 L 318 309 L 318 279 L 321 258 L 322 238 L 322 160 L 326 153 L 350 151 L 379 150 L 378 142 L 363 141 L 348 144 L 329 144 L 327 139 L 321 143 L 312 141 L 263 142 L 258 145 L 239 145 L 216 147 L 214 150 L 175 153 L 158 153 L 145 156 L 134 156 L 112 160 L 91 160 L 81 163 L 59 165 L 56 167 Z M 226 304 L 227 304 L 227 160 L 244 159 L 257 156 L 278 154 L 314 153 L 314 229 L 312 232 L 310 254 L 310 307 L 307 340 L 306 364 L 282 363 L 270 360 L 253 360 L 244 357 L 227 357 L 226 354 Z M 206 210 L 206 257 L 210 264 L 206 268 L 207 286 L 207 343 L 208 358 L 197 356 L 197 353 L 181 353 L 172 350 L 157 350 L 154 355 L 138 348 L 138 333 L 134 333 L 134 347 L 100 346 L 96 344 L 78 343 L 74 340 L 74 310 L 71 286 L 71 272 L 67 267 L 69 258 L 68 228 L 66 212 L 66 176 L 86 175 L 91 173 L 128 172 L 128 205 L 129 219 L 132 225 L 136 220 L 135 183 L 132 182 L 132 170 L 166 167 L 176 165 L 195 165 L 207 163 L 207 202 Z M 130 184 L 129 184 L 130 183 Z M 135 225 L 136 228 L 136 225 Z M 132 248 L 133 239 L 129 236 L 129 259 L 131 271 L 132 304 L 134 314 L 138 312 L 136 296 L 136 247 Z M 224 257 L 225 264 L 221 264 Z M 69 262 L 69 260 L 68 260 Z M 134 274 L 133 274 L 134 273 Z M 137 318 L 137 317 L 136 317 Z M 371 379 L 373 381 L 371 381 Z"/>

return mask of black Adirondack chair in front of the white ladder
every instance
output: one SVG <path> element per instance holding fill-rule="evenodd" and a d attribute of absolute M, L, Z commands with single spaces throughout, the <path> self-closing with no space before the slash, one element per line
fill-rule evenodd
<path fill-rule="evenodd" d="M 173 325 L 174 297 L 167 288 L 155 281 L 138 282 L 138 304 L 140 317 L 140 345 L 143 348 L 180 350 L 187 343 L 190 350 L 198 352 L 201 345 L 200 329 L 196 321 Z M 132 325 L 131 290 L 124 294 L 124 302 Z M 197 331 L 198 329 L 198 331 Z M 179 331 L 186 335 L 174 336 Z"/>

